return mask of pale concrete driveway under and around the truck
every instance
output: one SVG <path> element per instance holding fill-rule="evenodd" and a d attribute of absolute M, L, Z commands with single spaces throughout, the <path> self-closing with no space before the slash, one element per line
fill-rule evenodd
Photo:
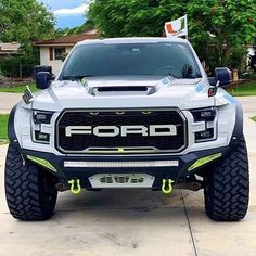
<path fill-rule="evenodd" d="M 0 146 L 0 255 L 256 255 L 256 98 L 243 98 L 251 161 L 251 202 L 240 222 L 214 222 L 204 213 L 203 191 L 170 196 L 148 190 L 61 193 L 56 214 L 44 222 L 14 220 L 7 208 Z"/>

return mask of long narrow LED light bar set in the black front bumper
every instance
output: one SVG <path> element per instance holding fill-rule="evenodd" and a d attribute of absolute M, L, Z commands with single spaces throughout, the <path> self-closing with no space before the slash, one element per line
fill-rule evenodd
<path fill-rule="evenodd" d="M 64 167 L 77 168 L 127 168 L 127 167 L 178 167 L 179 161 L 142 161 L 142 162 L 79 162 L 65 161 Z"/>

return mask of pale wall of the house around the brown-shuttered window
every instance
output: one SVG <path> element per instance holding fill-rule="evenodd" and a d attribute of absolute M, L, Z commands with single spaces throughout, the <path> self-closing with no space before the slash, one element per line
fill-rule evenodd
<path fill-rule="evenodd" d="M 73 47 L 65 47 L 66 53 L 71 52 Z M 62 67 L 63 62 L 59 60 L 54 60 L 53 53 L 53 61 L 50 61 L 50 47 L 40 47 L 40 65 L 47 65 L 52 67 L 52 73 L 57 75 Z"/>

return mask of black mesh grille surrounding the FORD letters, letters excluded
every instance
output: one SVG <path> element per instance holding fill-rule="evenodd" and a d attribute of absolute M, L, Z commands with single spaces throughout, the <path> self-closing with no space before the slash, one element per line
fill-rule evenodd
<path fill-rule="evenodd" d="M 66 137 L 65 132 L 67 126 L 91 126 L 92 128 L 97 126 L 115 126 L 119 128 L 121 126 L 139 125 L 176 125 L 177 136 L 143 137 L 142 135 L 128 135 L 127 137 L 97 137 L 94 135 L 72 135 L 72 137 Z M 178 152 L 185 146 L 185 129 L 187 125 L 183 117 L 175 110 L 66 111 L 56 121 L 56 148 L 64 153 L 85 152 L 88 148 L 154 148 L 156 152 Z"/>

